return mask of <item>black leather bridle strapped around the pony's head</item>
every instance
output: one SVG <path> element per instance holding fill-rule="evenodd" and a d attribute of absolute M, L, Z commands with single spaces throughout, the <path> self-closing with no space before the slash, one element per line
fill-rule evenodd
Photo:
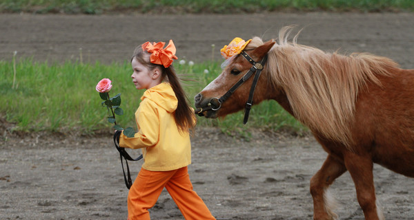
<path fill-rule="evenodd" d="M 195 110 L 195 113 L 203 116 L 203 111 L 207 111 L 207 110 L 213 110 L 213 111 L 217 111 L 221 108 L 221 104 L 227 100 L 228 97 L 230 97 L 235 91 L 236 89 L 238 89 L 240 87 L 240 85 L 242 85 L 244 82 L 246 82 L 248 80 L 248 78 L 250 78 L 250 76 L 252 76 L 253 74 L 255 74 L 255 77 L 253 78 L 253 83 L 252 83 L 252 87 L 250 87 L 250 93 L 248 94 L 248 100 L 246 102 L 246 107 L 244 109 L 244 119 L 243 119 L 243 124 L 247 123 L 248 120 L 248 114 L 250 113 L 250 109 L 252 108 L 253 105 L 253 94 L 255 94 L 255 89 L 256 89 L 256 85 L 257 85 L 257 81 L 259 80 L 259 76 L 262 73 L 262 69 L 264 67 L 264 65 L 266 64 L 267 61 L 267 54 L 264 56 L 264 58 L 262 59 L 262 61 L 260 61 L 259 63 L 255 62 L 253 60 L 253 58 L 251 58 L 244 50 L 242 51 L 241 55 L 246 58 L 246 60 L 251 63 L 252 67 L 250 67 L 250 69 L 248 70 L 248 72 L 246 74 L 244 74 L 244 76 L 242 78 L 239 79 L 239 81 L 237 81 L 237 83 L 235 83 L 235 85 L 233 85 L 233 87 L 231 87 L 226 94 L 224 94 L 223 96 L 221 96 L 220 98 L 212 98 L 210 99 L 210 101 L 208 101 L 207 107 L 203 108 L 199 108 Z M 216 101 L 215 101 L 216 100 Z M 213 104 L 213 101 L 218 102 L 217 106 L 215 107 Z"/>

